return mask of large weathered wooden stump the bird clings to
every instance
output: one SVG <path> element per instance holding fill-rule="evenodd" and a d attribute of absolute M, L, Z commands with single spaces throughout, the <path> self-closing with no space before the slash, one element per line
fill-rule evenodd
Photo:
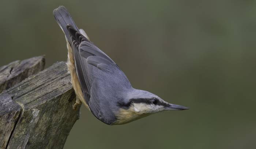
<path fill-rule="evenodd" d="M 0 149 L 62 149 L 79 119 L 65 62 L 0 94 Z"/>

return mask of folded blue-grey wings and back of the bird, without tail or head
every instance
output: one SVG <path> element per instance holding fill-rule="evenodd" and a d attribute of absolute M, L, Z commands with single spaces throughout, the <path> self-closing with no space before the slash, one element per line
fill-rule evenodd
<path fill-rule="evenodd" d="M 104 95 L 105 97 L 103 97 L 99 94 L 104 94 L 102 90 L 116 87 L 120 82 L 122 82 L 123 87 L 131 87 L 131 84 L 123 71 L 108 55 L 72 26 L 68 25 L 67 29 L 72 42 L 71 47 L 74 51 L 76 72 L 86 103 L 95 117 L 108 123 L 104 119 L 106 113 L 102 113 L 102 108 L 108 107 L 106 104 L 109 104 L 111 99 L 105 97 L 111 95 Z M 115 91 L 111 91 L 111 93 L 113 92 Z M 108 92 L 108 94 L 110 93 Z M 111 110 L 106 109 L 105 111 Z"/>

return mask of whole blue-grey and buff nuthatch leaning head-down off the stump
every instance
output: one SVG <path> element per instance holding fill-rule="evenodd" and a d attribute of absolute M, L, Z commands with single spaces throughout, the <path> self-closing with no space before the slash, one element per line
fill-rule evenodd
<path fill-rule="evenodd" d="M 53 16 L 67 42 L 67 67 L 76 94 L 74 109 L 83 103 L 108 125 L 126 124 L 159 111 L 189 109 L 134 89 L 121 68 L 76 26 L 64 6 L 54 9 Z"/>

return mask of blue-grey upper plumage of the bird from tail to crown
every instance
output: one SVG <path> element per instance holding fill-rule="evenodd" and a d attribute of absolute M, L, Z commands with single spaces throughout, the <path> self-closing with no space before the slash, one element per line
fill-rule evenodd
<path fill-rule="evenodd" d="M 53 15 L 72 48 L 83 97 L 96 118 L 108 125 L 124 123 L 117 122 L 120 108 L 128 109 L 139 99 L 146 103 L 154 98 L 162 106 L 169 105 L 157 95 L 133 89 L 117 64 L 82 35 L 65 7 L 54 9 Z"/>

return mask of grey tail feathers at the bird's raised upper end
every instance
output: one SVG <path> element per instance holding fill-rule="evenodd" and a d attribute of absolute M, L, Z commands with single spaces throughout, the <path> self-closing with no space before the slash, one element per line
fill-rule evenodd
<path fill-rule="evenodd" d="M 61 29 L 63 30 L 67 40 L 71 43 L 71 39 L 69 36 L 69 32 L 67 30 L 67 25 L 72 26 L 75 30 L 79 32 L 78 27 L 73 21 L 72 17 L 68 13 L 68 10 L 64 6 L 59 6 L 58 8 L 53 10 L 53 16 Z"/>

